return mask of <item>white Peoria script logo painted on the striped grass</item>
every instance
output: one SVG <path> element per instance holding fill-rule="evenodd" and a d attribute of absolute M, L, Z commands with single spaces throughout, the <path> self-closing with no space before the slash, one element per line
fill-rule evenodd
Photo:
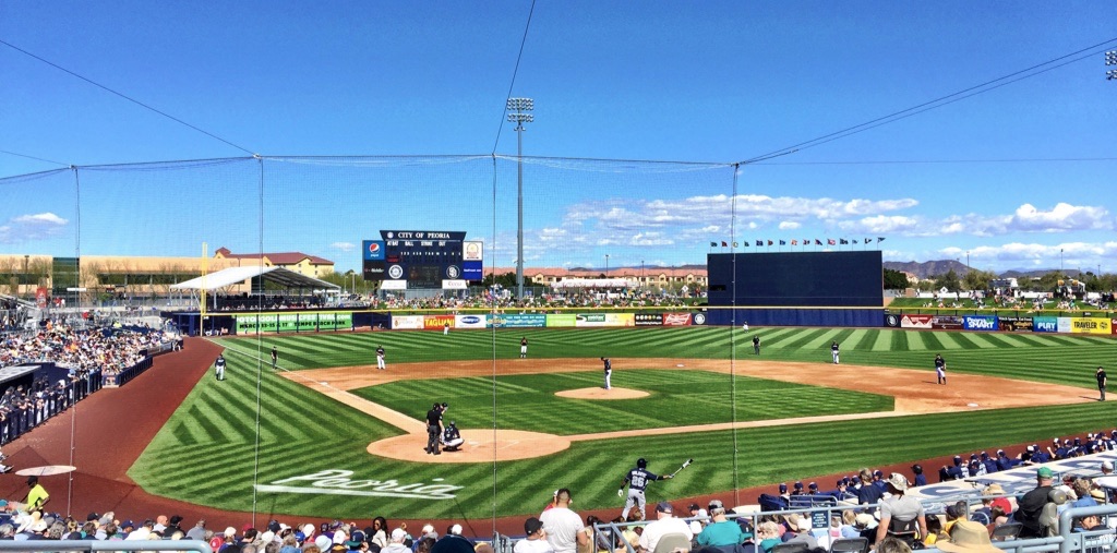
<path fill-rule="evenodd" d="M 400 484 L 397 480 L 354 480 L 351 478 L 352 476 L 352 470 L 327 469 L 308 475 L 283 478 L 271 484 L 257 484 L 256 489 L 287 494 L 454 499 L 456 497 L 454 493 L 465 487 L 449 484 Z M 296 485 L 288 486 L 288 484 Z"/>

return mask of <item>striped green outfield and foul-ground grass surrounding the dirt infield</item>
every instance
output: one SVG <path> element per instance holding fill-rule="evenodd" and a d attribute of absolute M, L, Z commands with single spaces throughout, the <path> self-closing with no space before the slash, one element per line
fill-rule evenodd
<path fill-rule="evenodd" d="M 675 480 L 656 483 L 649 488 L 650 500 L 657 500 L 821 474 L 850 473 L 861 466 L 907 463 L 995 449 L 1010 444 L 1050 440 L 1052 436 L 1072 436 L 1111 425 L 1111 406 L 1089 403 L 580 441 L 566 451 L 537 459 L 496 465 L 417 465 L 376 458 L 365 452 L 369 442 L 394 436 L 399 433 L 397 429 L 271 374 L 270 369 L 261 368 L 257 361 L 257 357 L 267 357 L 273 344 L 279 347 L 280 364 L 290 369 L 366 364 L 374 359 L 371 352 L 378 344 L 388 350 L 390 368 L 391 363 L 408 361 L 510 359 L 518 355 L 519 337 L 526 335 L 533 357 L 735 357 L 741 363 L 751 363 L 753 356 L 748 340 L 755 333 L 762 336 L 762 357 L 765 361 L 825 363 L 830 359 L 830 341 L 838 340 L 842 344 L 843 363 L 929 371 L 932 357 L 942 352 L 951 371 L 1059 382 L 1090 390 L 1094 389 L 1094 368 L 1111 361 L 1117 345 L 1108 339 L 1088 336 L 875 328 L 763 328 L 744 333 L 739 328 L 724 327 L 476 331 L 451 332 L 449 336 L 426 332 L 338 333 L 268 336 L 259 341 L 223 340 L 222 344 L 230 349 L 226 354 L 229 380 L 214 382 L 212 378 L 202 379 L 128 474 L 151 493 L 227 509 L 251 511 L 255 500 L 260 511 L 293 516 L 486 518 L 494 514 L 537 513 L 550 492 L 561 486 L 575 490 L 579 508 L 619 509 L 617 484 L 631 468 L 634 458 L 641 456 L 647 457 L 651 469 L 658 471 L 670 471 L 681 460 L 695 459 L 695 465 L 680 473 Z M 820 364 L 820 370 L 825 370 L 825 365 Z M 658 371 L 631 373 L 647 373 L 647 378 L 652 380 L 660 378 Z M 706 374 L 709 373 L 678 371 L 675 378 L 679 382 L 689 382 L 693 376 L 706 378 Z M 257 375 L 261 390 L 259 410 Z M 593 371 L 584 378 L 591 382 L 588 385 L 599 385 L 600 372 Z M 519 379 L 502 376 L 496 384 L 498 389 L 523 387 L 524 381 Z M 754 384 L 772 385 L 753 380 L 737 378 L 736 385 L 743 389 Z M 470 394 L 464 392 L 479 385 L 478 382 L 474 379 L 414 380 L 380 387 L 384 389 L 382 391 L 362 393 L 397 397 L 416 393 L 421 394 L 421 403 L 429 404 L 427 391 L 429 387 L 437 385 L 440 393 L 462 394 L 460 401 L 454 400 L 456 407 L 451 413 L 464 421 L 468 416 L 465 411 L 469 409 L 458 409 L 457 406 L 472 401 L 467 400 Z M 532 381 L 528 388 L 542 385 L 538 382 Z M 489 389 L 493 384 L 484 380 L 484 385 Z M 392 387 L 404 388 L 393 390 Z M 414 387 L 414 390 L 407 387 Z M 531 406 L 531 412 L 509 413 L 517 420 L 538 421 L 525 425 L 555 426 L 575 418 L 567 409 L 542 403 L 553 395 L 540 393 L 537 398 L 529 398 L 532 401 L 517 401 L 527 399 L 524 393 L 513 390 L 507 397 L 497 398 L 500 406 Z M 489 395 L 486 399 L 490 410 L 493 398 Z M 777 407 L 775 402 L 765 401 L 764 397 L 755 399 L 761 410 Z M 401 400 L 385 398 L 384 401 Z M 680 399 L 678 411 L 700 411 L 707 406 L 704 401 L 701 394 Z M 594 406 L 608 409 L 600 407 L 601 402 Z M 671 409 L 676 409 L 674 403 Z M 255 447 L 257 412 L 260 413 L 258 452 Z M 407 412 L 414 413 L 416 408 Z M 504 409 L 499 412 L 503 413 Z M 650 416 L 659 417 L 657 413 Z M 505 420 L 504 416 L 498 417 Z M 439 484 L 460 486 L 460 489 L 454 490 L 454 498 L 440 500 L 327 495 L 326 492 L 331 490 L 328 486 L 319 486 L 315 494 L 309 495 L 290 492 L 254 494 L 254 484 L 267 485 L 323 470 L 350 470 L 350 478 L 353 479 L 394 480 L 400 485 Z M 258 475 L 255 482 L 254 473 Z M 285 485 L 305 487 L 309 484 L 294 480 Z M 731 497 L 728 493 L 725 495 Z M 741 498 L 742 503 L 754 500 L 754 497 Z"/>

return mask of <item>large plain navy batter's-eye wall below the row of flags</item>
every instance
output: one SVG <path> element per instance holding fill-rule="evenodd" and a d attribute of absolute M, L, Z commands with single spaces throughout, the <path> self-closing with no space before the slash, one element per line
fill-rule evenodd
<path fill-rule="evenodd" d="M 714 325 L 880 326 L 879 250 L 709 254 Z"/>

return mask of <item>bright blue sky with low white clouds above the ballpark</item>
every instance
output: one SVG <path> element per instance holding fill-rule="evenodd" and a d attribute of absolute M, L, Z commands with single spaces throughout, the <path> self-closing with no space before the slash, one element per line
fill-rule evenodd
<path fill-rule="evenodd" d="M 0 39 L 264 155 L 514 154 L 515 133 L 505 125 L 497 136 L 529 8 L 0 0 Z M 536 103 L 528 155 L 732 163 L 1104 44 L 984 94 L 744 165 L 732 222 L 741 241 L 882 236 L 886 260 L 965 261 L 968 252 L 993 270 L 1114 273 L 1117 80 L 1105 79 L 1101 54 L 1117 49 L 1114 39 L 1117 10 L 1104 1 L 547 0 L 535 7 L 512 95 Z M 0 68 L 2 151 L 76 165 L 246 155 L 3 45 Z M 58 166 L 0 153 L 0 177 Z M 601 266 L 605 254 L 613 266 L 703 263 L 709 241 L 733 236 L 731 221 L 694 219 L 727 208 L 733 171 L 699 173 L 694 188 L 655 177 L 638 191 L 629 187 L 643 184 L 640 175 L 604 188 L 554 177 L 566 191 L 527 206 L 527 265 Z M 360 187 L 336 175 L 319 184 Z M 16 201 L 0 206 L 0 252 L 66 255 L 58 249 L 74 240 L 73 202 L 26 199 L 35 185 L 23 181 L 3 185 Z M 97 231 L 101 213 L 182 208 L 174 194 L 144 197 L 169 206 L 83 194 L 82 251 L 258 244 L 199 232 L 125 247 Z M 338 203 L 305 203 L 298 217 L 328 218 Z M 690 221 L 631 228 L 610 213 Z M 438 220 L 420 201 L 359 230 L 275 232 L 265 248 L 344 269 L 375 230 L 459 230 L 446 228 L 464 225 L 456 217 Z M 240 235 L 256 229 L 239 225 Z M 510 266 L 500 228 L 493 260 Z"/>

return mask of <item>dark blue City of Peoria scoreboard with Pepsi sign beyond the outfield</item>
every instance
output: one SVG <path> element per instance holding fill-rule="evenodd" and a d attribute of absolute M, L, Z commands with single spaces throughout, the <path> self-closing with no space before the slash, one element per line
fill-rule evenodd
<path fill-rule="evenodd" d="M 483 278 L 484 242 L 465 232 L 381 230 L 364 240 L 364 279 L 382 289 L 465 289 Z"/>

